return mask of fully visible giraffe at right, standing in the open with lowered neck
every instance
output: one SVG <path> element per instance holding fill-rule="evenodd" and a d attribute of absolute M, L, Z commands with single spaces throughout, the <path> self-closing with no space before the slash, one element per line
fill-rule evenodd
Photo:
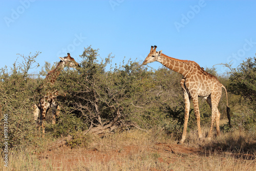
<path fill-rule="evenodd" d="M 155 49 L 154 49 L 155 48 Z M 198 97 L 203 97 L 211 108 L 211 125 L 210 131 L 208 133 L 207 139 L 211 139 L 212 137 L 212 129 L 214 123 L 216 122 L 217 136 L 220 135 L 220 112 L 218 110 L 218 104 L 222 94 L 222 88 L 226 92 L 226 100 L 227 100 L 227 90 L 220 83 L 217 77 L 207 73 L 201 68 L 198 63 L 190 60 L 180 60 L 169 57 L 162 53 L 161 51 L 156 51 L 157 46 L 151 46 L 150 53 L 147 55 L 142 65 L 146 65 L 147 63 L 151 63 L 154 61 L 158 61 L 162 63 L 165 67 L 175 72 L 182 74 L 183 78 L 180 81 L 181 88 L 183 90 L 184 99 L 185 99 L 185 120 L 184 120 L 184 128 L 182 133 L 182 138 L 180 140 L 180 144 L 184 143 L 186 138 L 186 129 L 187 122 L 189 117 L 189 109 L 190 109 L 190 99 L 194 104 L 195 116 L 197 119 L 197 127 L 198 127 L 198 137 L 202 138 L 201 126 L 200 126 L 200 112 L 198 105 Z M 228 123 L 230 124 L 230 109 L 228 107 L 227 101 L 227 117 Z"/>

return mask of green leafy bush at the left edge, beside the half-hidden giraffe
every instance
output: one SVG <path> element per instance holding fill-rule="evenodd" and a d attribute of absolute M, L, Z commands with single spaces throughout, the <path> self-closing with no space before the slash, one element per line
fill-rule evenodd
<path fill-rule="evenodd" d="M 11 71 L 7 67 L 1 69 L 0 75 L 0 105 L 1 128 L 8 127 L 8 136 L 4 137 L 4 129 L 0 129 L 1 138 L 9 139 L 10 147 L 33 142 L 35 124 L 32 116 L 33 91 L 36 81 L 28 73 L 29 69 L 37 67 L 35 58 L 40 52 L 23 58 L 22 63 L 14 62 Z M 18 59 L 18 58 L 17 58 Z M 6 116 L 6 117 L 4 117 Z"/>

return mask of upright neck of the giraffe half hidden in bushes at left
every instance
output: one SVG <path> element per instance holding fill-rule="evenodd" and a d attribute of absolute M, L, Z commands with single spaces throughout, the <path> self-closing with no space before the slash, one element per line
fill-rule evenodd
<path fill-rule="evenodd" d="M 49 84 L 53 85 L 54 82 L 56 81 L 56 79 L 58 78 L 60 72 L 64 68 L 64 66 L 65 66 L 65 62 L 64 61 L 59 61 L 57 67 L 47 74 L 47 76 L 45 78 L 46 83 L 49 83 Z"/>

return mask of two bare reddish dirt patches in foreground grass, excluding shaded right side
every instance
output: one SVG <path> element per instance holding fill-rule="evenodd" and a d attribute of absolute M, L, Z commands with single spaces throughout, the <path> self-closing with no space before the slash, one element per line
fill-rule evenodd
<path fill-rule="evenodd" d="M 97 148 L 73 148 L 62 146 L 52 151 L 37 154 L 42 163 L 51 163 L 54 169 L 72 170 L 79 164 L 86 165 L 88 162 L 106 163 L 110 160 L 120 161 L 121 158 L 139 154 L 141 147 L 137 145 L 123 146 L 119 150 L 99 151 Z M 159 162 L 173 163 L 178 156 L 198 155 L 200 148 L 191 148 L 178 144 L 155 143 L 153 147 L 145 147 L 147 152 L 159 154 Z M 173 155 L 171 155 L 173 154 Z M 154 169 L 153 169 L 154 170 Z"/>

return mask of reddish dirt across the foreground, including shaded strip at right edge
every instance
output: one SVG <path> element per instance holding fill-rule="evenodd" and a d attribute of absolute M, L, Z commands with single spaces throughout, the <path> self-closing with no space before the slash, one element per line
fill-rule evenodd
<path fill-rule="evenodd" d="M 217 151 L 216 151 L 217 150 Z M 215 148 L 215 153 L 223 154 L 223 151 Z M 205 149 L 187 147 L 186 145 L 169 144 L 169 143 L 155 143 L 153 145 L 141 146 L 141 145 L 123 145 L 118 149 L 105 149 L 99 150 L 97 148 L 73 148 L 69 146 L 61 146 L 51 151 L 44 153 L 36 153 L 39 161 L 47 166 L 51 165 L 53 170 L 80 170 L 81 167 L 87 167 L 90 164 L 87 163 L 101 163 L 107 164 L 110 161 L 114 161 L 118 165 L 122 165 L 123 161 L 133 158 L 134 156 L 141 154 L 155 154 L 156 160 L 164 165 L 172 164 L 178 160 L 186 160 L 187 157 L 193 161 L 200 160 L 200 157 L 207 155 Z M 252 154 L 238 154 L 228 153 L 237 159 L 255 160 L 255 155 Z M 86 168 L 84 168 L 87 170 Z M 151 170 L 158 170 L 152 168 Z"/>

